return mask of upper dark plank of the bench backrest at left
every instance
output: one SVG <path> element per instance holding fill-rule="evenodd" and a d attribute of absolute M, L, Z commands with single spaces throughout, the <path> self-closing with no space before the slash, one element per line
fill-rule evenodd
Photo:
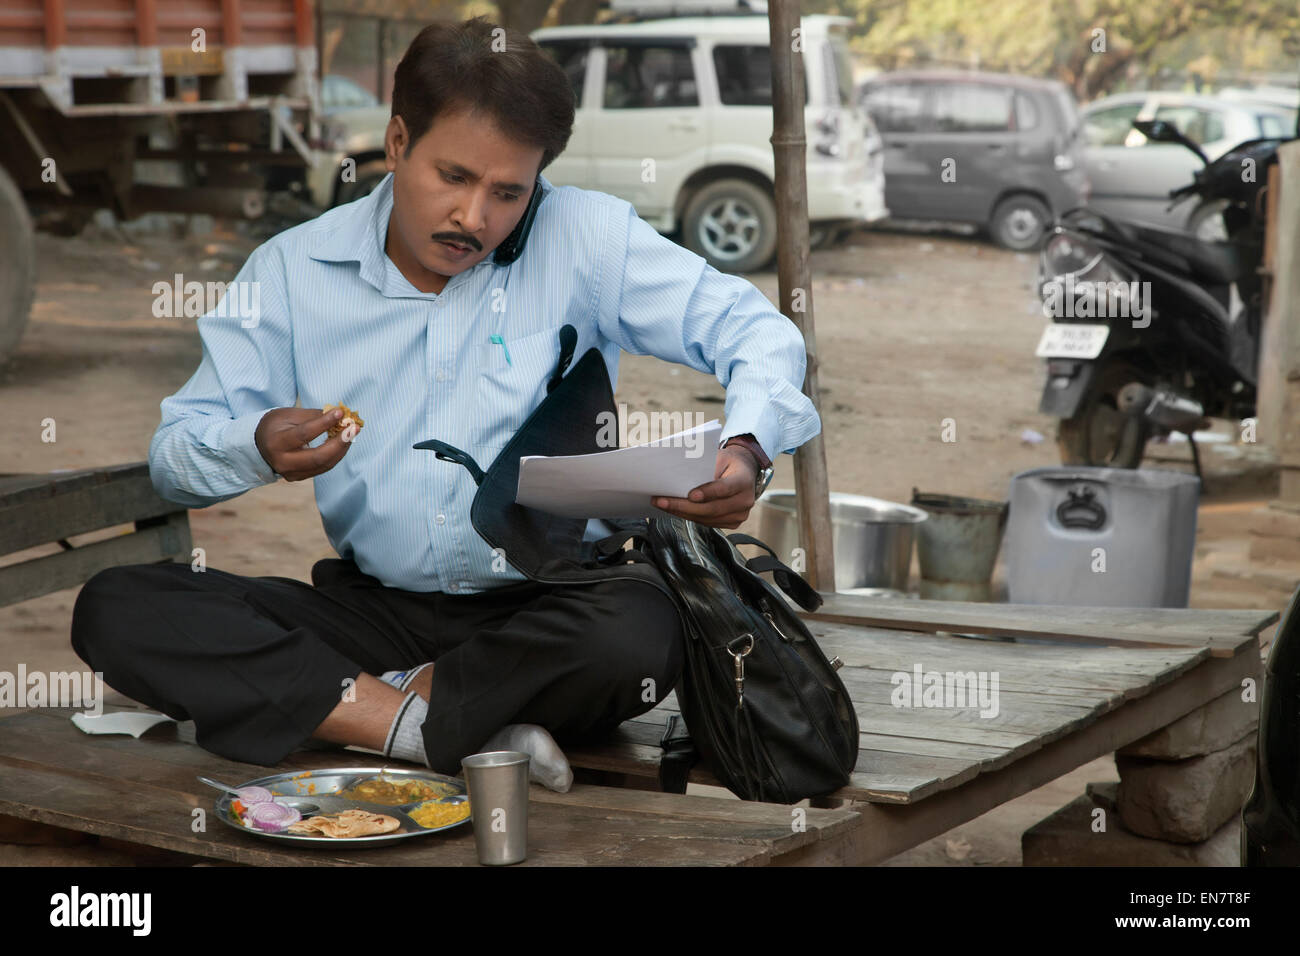
<path fill-rule="evenodd" d="M 0 554 L 174 511 L 185 509 L 159 497 L 144 463 L 46 476 L 0 498 Z"/>

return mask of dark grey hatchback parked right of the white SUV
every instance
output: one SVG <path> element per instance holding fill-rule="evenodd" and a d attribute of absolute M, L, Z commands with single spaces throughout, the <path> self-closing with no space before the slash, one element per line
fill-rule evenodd
<path fill-rule="evenodd" d="M 1079 113 L 1063 83 L 904 70 L 867 79 L 859 101 L 884 139 L 894 219 L 972 222 L 1028 250 L 1087 200 Z"/>

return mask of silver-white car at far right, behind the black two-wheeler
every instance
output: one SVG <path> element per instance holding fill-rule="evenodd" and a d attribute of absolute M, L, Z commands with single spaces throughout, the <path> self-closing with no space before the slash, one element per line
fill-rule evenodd
<path fill-rule="evenodd" d="M 1134 129 L 1134 120 L 1165 120 L 1217 160 L 1247 139 L 1295 135 L 1296 111 L 1278 103 L 1184 92 L 1123 92 L 1083 109 L 1083 134 L 1092 199 L 1104 216 L 1166 229 L 1213 230 L 1193 204 L 1169 208 L 1169 191 L 1186 186 L 1204 165 L 1176 143 L 1152 143 Z M 1197 221 L 1188 216 L 1197 212 Z M 1204 238 L 1221 238 L 1213 232 Z"/>

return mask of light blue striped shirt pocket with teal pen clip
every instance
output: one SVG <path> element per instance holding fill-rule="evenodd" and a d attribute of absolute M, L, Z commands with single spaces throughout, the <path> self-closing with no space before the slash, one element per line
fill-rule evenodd
<path fill-rule="evenodd" d="M 480 446 L 504 447 L 546 398 L 560 359 L 560 328 L 474 346 L 473 434 Z"/>

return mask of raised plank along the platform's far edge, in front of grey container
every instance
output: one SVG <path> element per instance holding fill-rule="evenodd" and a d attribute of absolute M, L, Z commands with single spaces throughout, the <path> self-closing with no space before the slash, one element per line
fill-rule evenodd
<path fill-rule="evenodd" d="M 1232 657 L 1278 619 L 1277 611 L 880 601 L 838 593 L 822 597 L 819 610 L 800 611 L 801 617 L 905 631 L 965 631 L 1141 648 L 1204 646 L 1213 657 Z"/>

